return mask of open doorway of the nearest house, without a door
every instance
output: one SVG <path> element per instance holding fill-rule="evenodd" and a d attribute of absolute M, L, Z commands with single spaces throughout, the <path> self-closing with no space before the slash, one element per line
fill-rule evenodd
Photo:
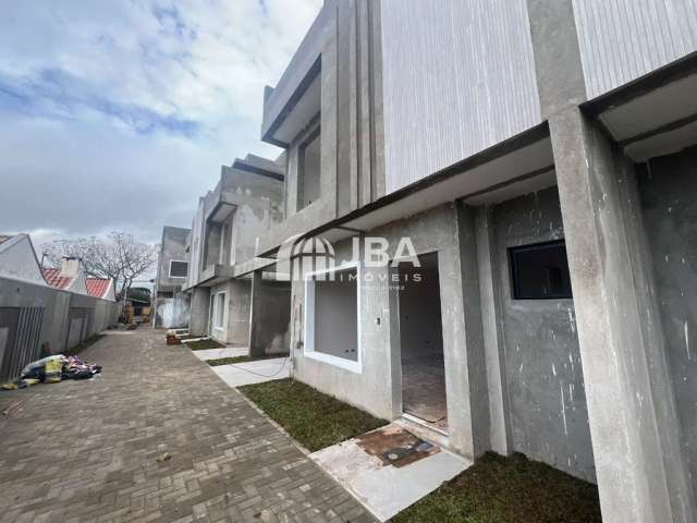
<path fill-rule="evenodd" d="M 402 410 L 448 429 L 443 329 L 438 254 L 418 256 L 420 267 L 400 263 Z"/>

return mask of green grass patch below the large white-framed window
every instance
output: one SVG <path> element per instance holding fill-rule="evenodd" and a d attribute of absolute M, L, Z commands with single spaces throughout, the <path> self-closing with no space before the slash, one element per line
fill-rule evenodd
<path fill-rule="evenodd" d="M 310 452 L 388 423 L 290 378 L 240 390 Z"/>

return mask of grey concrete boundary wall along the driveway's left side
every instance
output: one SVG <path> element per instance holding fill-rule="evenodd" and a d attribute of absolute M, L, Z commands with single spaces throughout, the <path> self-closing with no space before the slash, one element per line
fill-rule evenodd
<path fill-rule="evenodd" d="M 73 346 L 69 342 L 71 319 L 81 312 L 84 318 L 80 336 L 73 339 L 80 342 L 89 336 L 100 332 L 117 324 L 118 305 L 114 302 L 60 291 L 47 285 L 37 285 L 26 281 L 0 278 L 0 308 L 42 308 L 40 333 L 38 336 L 39 352 L 32 357 L 46 354 L 58 354 Z M 5 349 L 5 357 L 8 355 Z M 24 364 L 29 363 L 24 362 Z"/>

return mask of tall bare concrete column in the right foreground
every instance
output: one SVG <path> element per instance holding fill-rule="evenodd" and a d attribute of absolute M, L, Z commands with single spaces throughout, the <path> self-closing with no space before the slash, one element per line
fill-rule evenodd
<path fill-rule="evenodd" d="M 604 522 L 695 521 L 627 162 L 576 107 L 549 118 Z M 651 305 L 652 306 L 652 305 Z"/>

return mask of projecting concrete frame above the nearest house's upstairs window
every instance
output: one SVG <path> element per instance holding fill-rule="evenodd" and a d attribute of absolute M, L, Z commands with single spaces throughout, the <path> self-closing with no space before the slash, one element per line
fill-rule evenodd
<path fill-rule="evenodd" d="M 276 88 L 268 90 L 261 122 L 264 142 L 288 148 L 318 112 L 315 106 L 321 90 L 321 53 L 335 32 L 335 2 L 325 2 Z"/>

